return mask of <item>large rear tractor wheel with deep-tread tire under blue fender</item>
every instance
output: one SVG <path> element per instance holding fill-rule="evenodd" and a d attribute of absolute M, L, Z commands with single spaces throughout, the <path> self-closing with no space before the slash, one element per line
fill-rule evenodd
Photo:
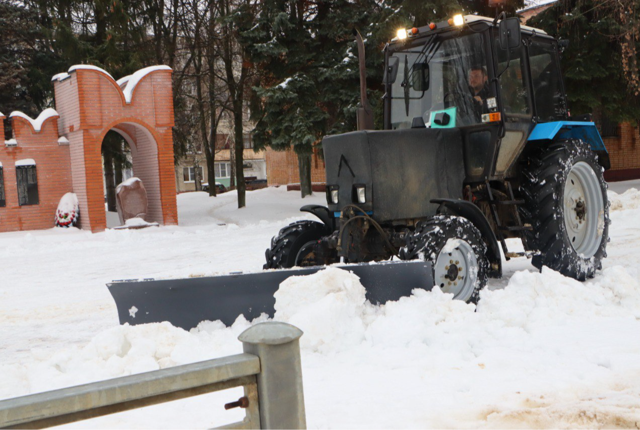
<path fill-rule="evenodd" d="M 609 241 L 607 184 L 596 154 L 579 139 L 556 141 L 529 157 L 520 191 L 525 198 L 525 247 L 532 264 L 583 281 L 602 269 Z"/>

